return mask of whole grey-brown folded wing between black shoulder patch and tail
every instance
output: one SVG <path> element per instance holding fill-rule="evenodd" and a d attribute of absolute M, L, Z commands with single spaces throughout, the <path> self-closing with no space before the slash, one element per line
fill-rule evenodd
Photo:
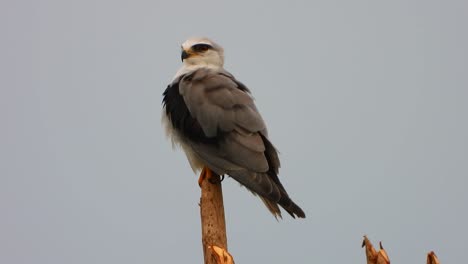
<path fill-rule="evenodd" d="M 194 147 L 201 148 L 214 167 L 224 169 L 220 173 L 231 169 L 266 172 L 269 166 L 260 135 L 266 136 L 265 122 L 253 98 L 239 85 L 228 73 L 207 69 L 181 79 L 179 92 L 191 115 L 207 137 L 218 139 L 216 148 Z M 231 164 L 226 168 L 224 163 Z"/>

